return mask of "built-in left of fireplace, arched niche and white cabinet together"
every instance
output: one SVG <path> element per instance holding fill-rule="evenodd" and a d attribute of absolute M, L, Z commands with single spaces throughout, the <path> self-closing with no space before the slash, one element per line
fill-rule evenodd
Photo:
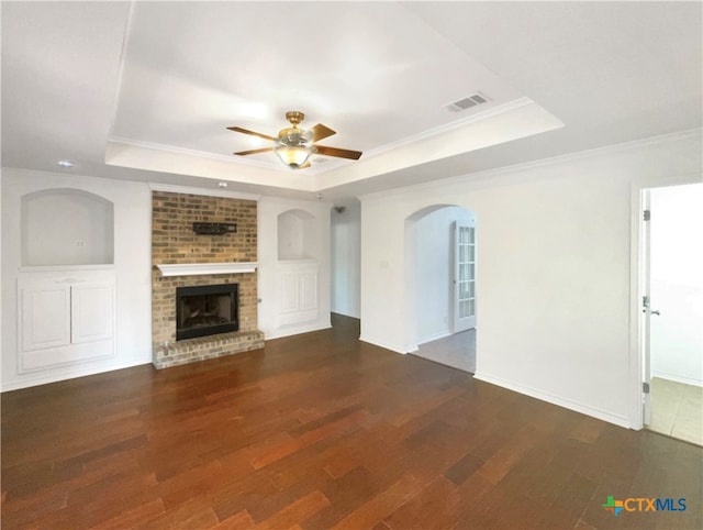
<path fill-rule="evenodd" d="M 20 202 L 18 371 L 114 355 L 113 203 L 76 188 Z"/>

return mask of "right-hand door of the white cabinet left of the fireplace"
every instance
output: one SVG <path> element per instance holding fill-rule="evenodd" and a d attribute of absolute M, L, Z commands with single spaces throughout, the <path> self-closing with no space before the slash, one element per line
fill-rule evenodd
<path fill-rule="evenodd" d="M 112 284 L 71 286 L 71 343 L 112 339 L 114 287 Z"/>

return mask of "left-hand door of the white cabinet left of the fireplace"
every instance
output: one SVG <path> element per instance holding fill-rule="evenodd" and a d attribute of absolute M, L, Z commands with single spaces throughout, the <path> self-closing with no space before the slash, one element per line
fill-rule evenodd
<path fill-rule="evenodd" d="M 70 286 L 32 284 L 20 287 L 22 351 L 70 344 Z"/>

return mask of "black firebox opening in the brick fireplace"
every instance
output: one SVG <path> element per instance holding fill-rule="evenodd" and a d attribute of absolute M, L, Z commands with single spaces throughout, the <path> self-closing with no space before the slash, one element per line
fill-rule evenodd
<path fill-rule="evenodd" d="M 237 284 L 176 288 L 176 340 L 239 330 Z"/>

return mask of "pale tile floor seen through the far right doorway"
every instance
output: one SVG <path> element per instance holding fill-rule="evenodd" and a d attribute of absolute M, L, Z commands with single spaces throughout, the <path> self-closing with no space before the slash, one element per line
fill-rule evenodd
<path fill-rule="evenodd" d="M 703 388 L 660 377 L 651 379 L 649 430 L 703 445 Z"/>

